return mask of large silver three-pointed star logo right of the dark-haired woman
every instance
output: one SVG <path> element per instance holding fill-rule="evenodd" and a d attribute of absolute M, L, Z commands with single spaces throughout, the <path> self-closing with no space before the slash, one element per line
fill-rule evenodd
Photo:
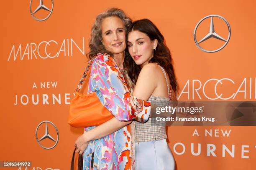
<path fill-rule="evenodd" d="M 224 20 L 225 23 L 227 24 L 227 26 L 228 26 L 228 38 L 227 38 L 227 39 L 221 37 L 220 35 L 218 35 L 218 34 L 215 32 L 215 30 L 214 30 L 214 24 L 213 24 L 213 17 L 218 17 L 218 18 Z M 197 39 L 196 39 L 197 27 L 198 27 L 198 26 L 200 25 L 200 23 L 202 23 L 202 21 L 205 20 L 206 18 L 211 18 L 209 33 L 208 33 L 207 35 L 205 35 L 205 37 L 203 37 L 200 41 L 197 41 Z M 229 25 L 228 21 L 227 21 L 225 18 L 223 18 L 222 16 L 220 16 L 220 15 L 208 15 L 208 16 L 206 16 L 205 18 L 202 18 L 202 20 L 200 20 L 200 21 L 197 23 L 197 25 L 196 25 L 196 27 L 195 27 L 195 30 L 194 30 L 194 40 L 195 40 L 195 43 L 196 43 L 197 47 L 199 47 L 201 50 L 203 50 L 203 51 L 205 51 L 205 52 L 217 52 L 217 51 L 223 49 L 223 48 L 227 45 L 227 43 L 228 43 L 228 41 L 229 41 L 229 39 L 230 39 L 230 35 L 231 35 L 230 25 Z M 222 41 L 225 42 L 225 44 L 224 44 L 222 47 L 218 48 L 217 50 L 205 50 L 205 49 L 202 48 L 199 44 L 200 44 L 201 42 L 204 42 L 205 40 L 208 40 L 209 38 L 216 38 L 216 39 L 218 39 L 218 40 L 222 40 Z"/>

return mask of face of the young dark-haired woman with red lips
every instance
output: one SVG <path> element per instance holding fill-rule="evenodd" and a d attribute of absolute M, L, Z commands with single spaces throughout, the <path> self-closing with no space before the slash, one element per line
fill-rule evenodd
<path fill-rule="evenodd" d="M 148 35 L 134 30 L 128 34 L 128 51 L 137 65 L 146 65 L 153 57 L 153 50 L 157 46 L 157 40 L 150 40 Z"/>

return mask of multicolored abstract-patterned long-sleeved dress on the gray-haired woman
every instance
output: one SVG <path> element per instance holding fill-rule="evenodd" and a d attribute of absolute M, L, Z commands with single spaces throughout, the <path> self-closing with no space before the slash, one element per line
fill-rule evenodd
<path fill-rule="evenodd" d="M 91 69 L 88 93 L 95 92 L 102 105 L 118 120 L 148 120 L 150 103 L 131 95 L 130 87 L 113 57 L 99 53 Z M 93 128 L 87 127 L 84 131 Z M 131 125 L 128 125 L 104 138 L 90 141 L 83 153 L 83 170 L 133 170 L 132 139 Z"/>

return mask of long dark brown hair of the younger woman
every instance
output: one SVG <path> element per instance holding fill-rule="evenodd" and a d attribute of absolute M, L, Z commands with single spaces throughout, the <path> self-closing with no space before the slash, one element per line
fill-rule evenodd
<path fill-rule="evenodd" d="M 148 19 L 134 21 L 126 31 L 126 37 L 128 37 L 129 32 L 134 30 L 145 33 L 146 35 L 148 35 L 150 40 L 156 39 L 158 41 L 156 50 L 154 50 L 154 56 L 151 58 L 151 60 L 149 60 L 149 62 L 157 63 L 161 65 L 164 68 L 164 70 L 166 70 L 170 79 L 170 84 L 172 85 L 172 89 L 176 93 L 177 82 L 174 74 L 174 68 L 172 65 L 172 57 L 171 57 L 169 48 L 166 46 L 164 42 L 164 36 L 158 30 L 156 25 L 154 25 L 154 23 L 152 23 Z M 127 44 L 127 39 L 128 38 L 126 38 L 126 44 Z M 133 83 L 136 84 L 138 75 L 141 71 L 141 66 L 136 65 L 131 55 L 129 54 L 127 48 L 125 50 L 125 61 L 123 65 L 127 69 L 128 75 L 133 81 Z"/>

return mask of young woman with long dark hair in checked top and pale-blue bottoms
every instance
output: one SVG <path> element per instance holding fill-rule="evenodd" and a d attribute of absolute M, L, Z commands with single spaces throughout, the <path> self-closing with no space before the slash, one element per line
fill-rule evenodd
<path fill-rule="evenodd" d="M 151 105 L 168 105 L 169 84 L 176 91 L 177 82 L 164 36 L 148 19 L 133 22 L 126 35 L 129 54 L 124 65 L 133 68 L 128 69 L 129 77 L 136 84 L 133 92 L 143 88 L 148 93 L 140 93 L 139 99 Z M 136 170 L 174 170 L 174 158 L 166 143 L 165 122 L 149 118 L 146 123 L 135 121 L 135 128 Z"/>

